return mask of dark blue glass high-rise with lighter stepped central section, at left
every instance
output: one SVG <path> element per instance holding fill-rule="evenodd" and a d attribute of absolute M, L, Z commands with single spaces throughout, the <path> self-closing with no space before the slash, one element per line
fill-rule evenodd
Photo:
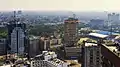
<path fill-rule="evenodd" d="M 26 44 L 26 24 L 10 23 L 8 24 L 8 46 L 10 53 L 23 54 Z"/>

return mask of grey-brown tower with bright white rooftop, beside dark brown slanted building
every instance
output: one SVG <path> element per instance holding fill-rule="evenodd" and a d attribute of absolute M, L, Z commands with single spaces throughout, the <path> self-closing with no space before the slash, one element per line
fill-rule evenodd
<path fill-rule="evenodd" d="M 82 67 L 101 67 L 101 47 L 98 44 L 85 43 L 82 52 Z"/>

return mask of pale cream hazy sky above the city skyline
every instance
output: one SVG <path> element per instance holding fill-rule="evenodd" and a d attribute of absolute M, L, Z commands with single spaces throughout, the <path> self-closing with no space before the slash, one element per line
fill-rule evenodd
<path fill-rule="evenodd" d="M 0 10 L 120 11 L 120 0 L 0 0 Z"/>

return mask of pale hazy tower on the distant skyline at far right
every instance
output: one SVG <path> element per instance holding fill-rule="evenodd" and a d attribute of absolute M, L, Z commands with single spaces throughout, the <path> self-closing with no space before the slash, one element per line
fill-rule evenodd
<path fill-rule="evenodd" d="M 119 14 L 112 13 L 108 14 L 108 22 L 112 24 L 116 24 L 119 22 Z"/>

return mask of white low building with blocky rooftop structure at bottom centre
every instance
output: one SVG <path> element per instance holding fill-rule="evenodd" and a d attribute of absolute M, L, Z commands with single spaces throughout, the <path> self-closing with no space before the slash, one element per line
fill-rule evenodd
<path fill-rule="evenodd" d="M 57 59 L 55 52 L 43 51 L 44 60 L 31 61 L 31 67 L 67 67 L 67 63 Z"/>

